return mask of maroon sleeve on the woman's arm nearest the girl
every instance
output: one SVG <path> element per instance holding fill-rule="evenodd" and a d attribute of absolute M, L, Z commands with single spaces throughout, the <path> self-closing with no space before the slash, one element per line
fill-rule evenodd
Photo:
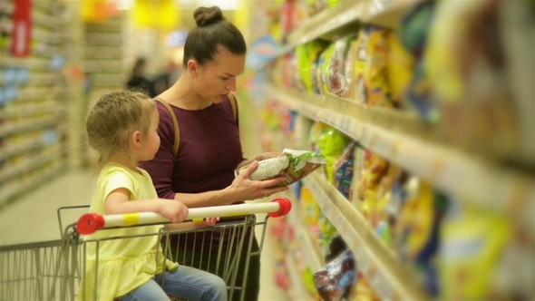
<path fill-rule="evenodd" d="M 153 160 L 143 162 L 141 167 L 151 175 L 159 198 L 174 199 L 176 193 L 171 187 L 171 180 L 176 160 L 173 150 L 175 131 L 170 112 L 160 102 L 157 102 L 157 107 L 160 112 L 160 149 Z"/>

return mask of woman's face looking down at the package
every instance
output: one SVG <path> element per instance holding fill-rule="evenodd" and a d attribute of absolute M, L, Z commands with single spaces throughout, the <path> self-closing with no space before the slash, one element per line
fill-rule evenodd
<path fill-rule="evenodd" d="M 209 102 L 220 103 L 229 92 L 236 91 L 236 78 L 243 73 L 245 55 L 235 55 L 220 47 L 214 60 L 197 66 L 196 90 Z"/>

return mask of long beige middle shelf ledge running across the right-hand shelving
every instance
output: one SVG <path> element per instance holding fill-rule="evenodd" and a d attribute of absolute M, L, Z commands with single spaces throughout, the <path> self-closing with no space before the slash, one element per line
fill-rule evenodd
<path fill-rule="evenodd" d="M 502 168 L 433 142 L 433 129 L 410 116 L 366 108 L 336 96 L 296 94 L 268 87 L 268 95 L 306 117 L 345 132 L 367 150 L 426 180 L 462 202 L 505 213 L 535 232 L 535 183 L 530 175 Z M 423 128 L 423 129 L 422 129 Z"/>

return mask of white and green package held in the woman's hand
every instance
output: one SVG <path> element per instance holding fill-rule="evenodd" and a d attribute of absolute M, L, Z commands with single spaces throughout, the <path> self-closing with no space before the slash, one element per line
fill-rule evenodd
<path fill-rule="evenodd" d="M 249 178 L 251 180 L 268 180 L 282 176 L 286 177 L 287 180 L 277 184 L 277 186 L 287 186 L 305 178 L 312 171 L 325 164 L 325 158 L 315 152 L 285 149 L 280 157 L 259 161 L 257 170 L 253 171 Z M 238 170 L 238 174 L 247 167 L 244 166 Z"/>

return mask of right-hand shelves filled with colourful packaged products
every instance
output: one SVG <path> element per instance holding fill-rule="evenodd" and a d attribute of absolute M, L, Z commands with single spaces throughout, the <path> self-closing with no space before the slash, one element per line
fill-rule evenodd
<path fill-rule="evenodd" d="M 266 69 L 272 100 L 310 121 L 293 140 L 326 160 L 300 189 L 309 235 L 325 254 L 347 241 L 347 299 L 532 299 L 514 276 L 535 277 L 520 268 L 535 260 L 535 110 L 519 63 L 532 62 L 532 5 L 379 2 L 309 5 Z M 326 268 L 317 293 L 340 299 Z"/>

